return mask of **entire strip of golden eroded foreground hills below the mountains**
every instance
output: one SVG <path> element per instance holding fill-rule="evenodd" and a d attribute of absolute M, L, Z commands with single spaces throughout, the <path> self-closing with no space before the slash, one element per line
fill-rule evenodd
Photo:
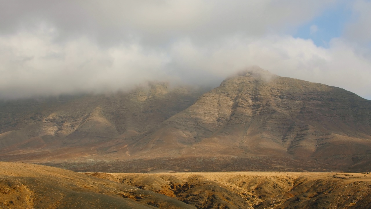
<path fill-rule="evenodd" d="M 371 208 L 371 174 L 75 173 L 0 162 L 0 208 Z M 98 177 L 98 178 L 96 178 Z"/>

